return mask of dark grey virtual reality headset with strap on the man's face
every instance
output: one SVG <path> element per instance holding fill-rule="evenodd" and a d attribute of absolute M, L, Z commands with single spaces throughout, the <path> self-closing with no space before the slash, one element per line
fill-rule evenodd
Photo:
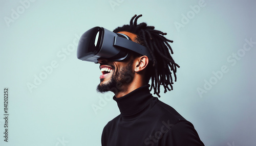
<path fill-rule="evenodd" d="M 77 58 L 95 63 L 98 63 L 99 58 L 121 61 L 129 56 L 130 51 L 145 55 L 149 60 L 152 60 L 147 48 L 133 42 L 127 35 L 114 33 L 101 27 L 94 27 L 80 37 Z"/>

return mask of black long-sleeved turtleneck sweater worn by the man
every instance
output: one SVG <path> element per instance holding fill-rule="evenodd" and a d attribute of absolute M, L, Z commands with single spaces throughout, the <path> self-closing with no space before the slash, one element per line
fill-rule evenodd
<path fill-rule="evenodd" d="M 102 146 L 204 145 L 194 126 L 142 86 L 116 98 L 120 115 L 109 121 Z"/>

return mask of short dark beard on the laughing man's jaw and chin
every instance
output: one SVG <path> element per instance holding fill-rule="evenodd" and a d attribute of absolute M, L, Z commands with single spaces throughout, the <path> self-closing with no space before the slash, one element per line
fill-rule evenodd
<path fill-rule="evenodd" d="M 123 67 L 118 72 L 113 72 L 112 77 L 108 83 L 99 84 L 97 86 L 97 91 L 100 93 L 112 91 L 117 93 L 122 90 L 122 85 L 127 85 L 131 83 L 134 79 L 134 72 L 132 70 L 133 61 L 130 61 L 125 67 Z M 115 68 L 113 68 L 115 70 Z M 116 73 L 116 74 L 115 74 Z M 100 79 L 100 82 L 104 80 Z"/>

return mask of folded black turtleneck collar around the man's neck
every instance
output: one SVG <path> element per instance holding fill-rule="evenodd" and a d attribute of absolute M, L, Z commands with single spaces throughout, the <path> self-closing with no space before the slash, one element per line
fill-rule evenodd
<path fill-rule="evenodd" d="M 148 107 L 150 103 L 158 100 L 153 97 L 148 89 L 149 84 L 141 86 L 140 88 L 135 89 L 134 91 L 120 97 L 113 99 L 117 102 L 118 108 L 121 112 L 121 117 L 123 118 L 134 118 L 137 114 L 141 113 Z"/>

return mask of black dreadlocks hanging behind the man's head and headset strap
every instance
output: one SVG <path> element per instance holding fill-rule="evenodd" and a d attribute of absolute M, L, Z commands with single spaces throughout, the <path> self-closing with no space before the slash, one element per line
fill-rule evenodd
<path fill-rule="evenodd" d="M 145 78 L 147 83 L 150 81 L 151 78 L 150 90 L 154 89 L 154 94 L 157 94 L 160 98 L 160 85 L 163 85 L 164 93 L 167 90 L 173 90 L 172 84 L 174 84 L 174 82 L 171 71 L 173 71 L 176 82 L 176 70 L 177 67 L 180 66 L 175 63 L 169 53 L 170 50 L 170 52 L 173 54 L 173 50 L 168 42 L 173 41 L 168 40 L 163 36 L 166 35 L 166 33 L 155 30 L 155 27 L 153 26 L 147 26 L 145 22 L 137 25 L 137 20 L 141 16 L 142 15 L 134 15 L 130 21 L 130 25 L 123 25 L 122 27 L 118 27 L 113 32 L 117 33 L 121 31 L 126 31 L 134 33 L 137 35 L 136 41 L 139 44 L 144 45 L 148 48 L 153 57 L 153 61 L 150 62 L 146 67 L 148 71 Z"/>

